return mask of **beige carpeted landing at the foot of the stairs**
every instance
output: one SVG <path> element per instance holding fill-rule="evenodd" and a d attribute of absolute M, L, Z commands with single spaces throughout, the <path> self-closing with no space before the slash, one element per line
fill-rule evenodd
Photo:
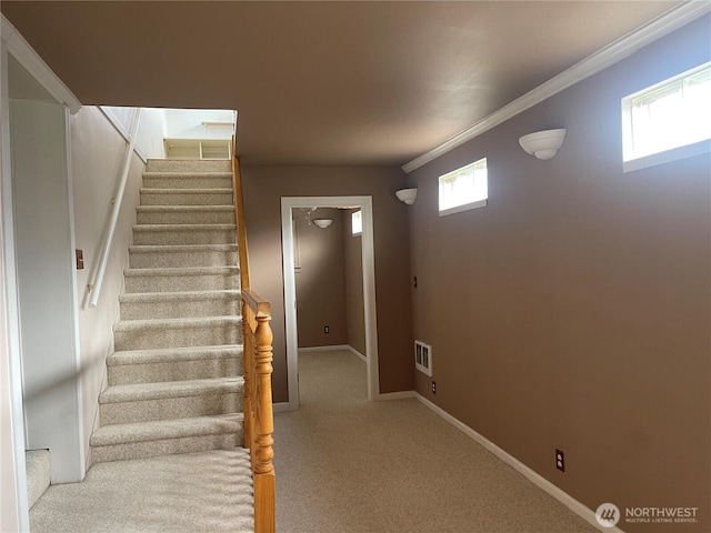
<path fill-rule="evenodd" d="M 47 490 L 30 531 L 247 533 L 253 520 L 249 452 L 232 449 L 96 464 Z"/>

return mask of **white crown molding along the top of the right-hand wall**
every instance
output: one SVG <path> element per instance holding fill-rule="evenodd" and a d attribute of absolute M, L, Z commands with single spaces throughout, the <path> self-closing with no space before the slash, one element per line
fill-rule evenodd
<path fill-rule="evenodd" d="M 409 163 L 402 165 L 402 170 L 407 173 L 435 160 L 440 155 L 453 150 L 457 147 L 481 135 L 482 133 L 502 124 L 507 120 L 519 113 L 541 103 L 548 98 L 558 94 L 571 86 L 589 78 L 608 67 L 623 60 L 624 58 L 637 52 L 639 49 L 650 44 L 651 42 L 671 33 L 672 31 L 688 24 L 689 22 L 703 17 L 711 12 L 711 2 L 709 0 L 690 0 L 687 1 L 657 19 L 648 22 L 631 33 L 613 41 L 599 51 L 588 56 L 585 59 L 573 64 L 560 74 L 551 78 L 547 82 L 540 84 L 535 89 L 527 92 L 522 97 L 517 98 L 503 108 L 494 111 L 490 115 L 483 118 L 471 128 L 458 133 L 451 139 L 444 141 L 439 147 L 423 153 L 413 159 Z"/>

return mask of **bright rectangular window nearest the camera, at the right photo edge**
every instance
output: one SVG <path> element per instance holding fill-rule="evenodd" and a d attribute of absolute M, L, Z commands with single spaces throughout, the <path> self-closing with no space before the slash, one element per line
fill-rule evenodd
<path fill-rule="evenodd" d="M 625 171 L 705 153 L 710 139 L 711 62 L 622 99 Z"/>

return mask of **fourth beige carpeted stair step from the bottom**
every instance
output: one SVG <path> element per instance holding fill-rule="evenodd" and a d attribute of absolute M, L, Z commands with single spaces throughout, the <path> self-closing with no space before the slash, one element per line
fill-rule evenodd
<path fill-rule="evenodd" d="M 242 320 L 240 316 L 122 320 L 113 326 L 113 339 L 117 351 L 240 344 Z"/>

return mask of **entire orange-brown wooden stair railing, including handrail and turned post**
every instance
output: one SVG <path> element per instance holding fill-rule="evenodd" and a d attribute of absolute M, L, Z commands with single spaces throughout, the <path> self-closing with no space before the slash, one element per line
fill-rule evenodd
<path fill-rule="evenodd" d="M 237 245 L 240 261 L 242 330 L 244 333 L 244 446 L 252 460 L 254 533 L 276 531 L 274 419 L 272 411 L 271 306 L 250 289 L 249 255 L 244 229 L 244 198 L 239 158 L 232 159 Z"/>

